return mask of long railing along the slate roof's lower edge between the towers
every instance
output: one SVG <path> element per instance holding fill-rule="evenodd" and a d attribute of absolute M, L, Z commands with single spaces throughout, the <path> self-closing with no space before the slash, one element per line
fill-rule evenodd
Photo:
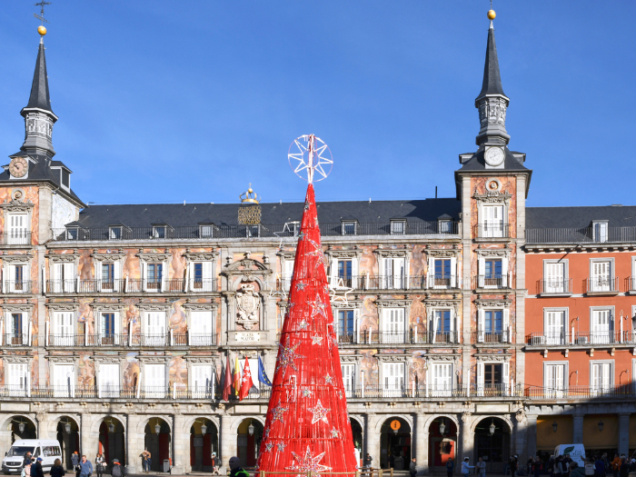
<path fill-rule="evenodd" d="M 321 234 L 323 236 L 337 235 L 396 235 L 395 228 L 392 230 L 390 222 L 381 223 L 356 223 L 354 227 L 346 227 L 345 224 L 321 223 Z M 214 230 L 205 231 L 202 234 L 199 226 L 167 227 L 163 236 L 156 236 L 154 227 L 122 227 L 118 234 L 112 234 L 110 227 L 82 228 L 68 227 L 64 229 L 54 229 L 54 242 L 117 242 L 122 240 L 212 240 L 217 238 L 252 238 L 252 237 L 272 237 L 280 238 L 284 236 L 293 237 L 293 230 L 285 227 L 284 224 L 260 224 L 251 225 L 218 225 Z M 459 234 L 459 223 L 440 223 L 438 221 L 406 221 L 402 232 L 399 235 L 457 235 Z"/>

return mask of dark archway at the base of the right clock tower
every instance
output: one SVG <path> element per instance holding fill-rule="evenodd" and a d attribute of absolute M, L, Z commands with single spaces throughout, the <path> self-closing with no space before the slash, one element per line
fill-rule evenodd
<path fill-rule="evenodd" d="M 482 457 L 486 473 L 503 473 L 510 460 L 510 428 L 497 417 L 487 417 L 475 427 L 474 462 Z"/>

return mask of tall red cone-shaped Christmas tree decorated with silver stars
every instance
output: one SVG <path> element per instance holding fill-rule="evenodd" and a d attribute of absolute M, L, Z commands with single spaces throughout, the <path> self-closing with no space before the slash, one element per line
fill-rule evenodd
<path fill-rule="evenodd" d="M 309 184 L 258 468 L 355 472 L 323 247 Z"/>

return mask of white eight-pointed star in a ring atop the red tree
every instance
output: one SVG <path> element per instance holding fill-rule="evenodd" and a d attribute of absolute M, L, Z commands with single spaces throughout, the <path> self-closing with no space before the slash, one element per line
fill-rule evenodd
<path fill-rule="evenodd" d="M 289 146 L 287 159 L 294 174 L 309 184 L 322 181 L 332 172 L 332 152 L 327 144 L 314 134 L 304 134 L 294 139 Z"/>

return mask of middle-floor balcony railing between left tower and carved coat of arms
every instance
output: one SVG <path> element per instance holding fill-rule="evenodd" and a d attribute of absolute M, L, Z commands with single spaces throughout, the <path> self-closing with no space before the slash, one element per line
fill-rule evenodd
<path fill-rule="evenodd" d="M 9 335 L 5 335 L 5 343 Z M 24 340 L 24 338 L 23 338 Z M 28 337 L 27 337 L 28 341 Z M 132 334 L 56 334 L 49 333 L 46 346 L 51 347 L 130 347 L 130 346 L 214 346 L 216 334 L 158 333 Z M 10 345 L 10 344 L 7 344 Z M 18 344 L 14 344 L 17 346 Z"/>

